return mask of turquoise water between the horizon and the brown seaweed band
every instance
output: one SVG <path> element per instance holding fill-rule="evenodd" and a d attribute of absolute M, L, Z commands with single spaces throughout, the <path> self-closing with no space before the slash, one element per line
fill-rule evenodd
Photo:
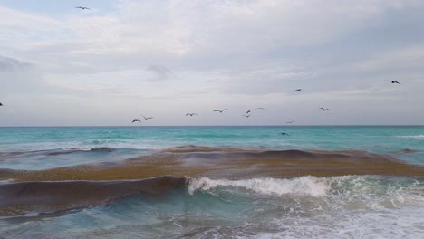
<path fill-rule="evenodd" d="M 283 136 L 280 133 L 288 133 Z M 0 128 L 0 152 L 69 148 L 114 148 L 85 153 L 0 161 L 0 167 L 42 169 L 115 161 L 154 150 L 198 145 L 231 148 L 365 150 L 424 164 L 424 126 L 266 126 L 266 127 L 46 127 Z M 411 153 L 402 154 L 409 149 Z M 21 157 L 19 157 L 21 158 Z"/>

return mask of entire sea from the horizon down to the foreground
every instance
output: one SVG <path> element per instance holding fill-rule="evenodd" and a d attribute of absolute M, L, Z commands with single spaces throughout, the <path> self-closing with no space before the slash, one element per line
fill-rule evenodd
<path fill-rule="evenodd" d="M 424 238 L 423 168 L 424 126 L 3 127 L 0 238 Z"/>

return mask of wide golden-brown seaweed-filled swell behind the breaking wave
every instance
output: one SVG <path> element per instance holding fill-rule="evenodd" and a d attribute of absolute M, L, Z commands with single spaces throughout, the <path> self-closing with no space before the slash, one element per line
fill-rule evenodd
<path fill-rule="evenodd" d="M 423 177 L 424 167 L 388 155 L 344 150 L 258 150 L 185 146 L 130 158 L 116 164 L 87 164 L 45 170 L 0 169 L 15 181 L 125 180 L 161 177 L 331 177 L 385 175 Z"/>

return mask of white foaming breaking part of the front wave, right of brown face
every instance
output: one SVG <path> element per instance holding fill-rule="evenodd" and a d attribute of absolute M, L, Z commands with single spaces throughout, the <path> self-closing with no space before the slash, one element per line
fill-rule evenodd
<path fill-rule="evenodd" d="M 244 180 L 189 178 L 188 194 L 197 192 L 212 195 L 245 189 L 261 196 L 284 196 L 298 203 L 314 202 L 314 208 L 356 208 L 384 210 L 393 207 L 424 204 L 423 178 L 341 176 L 341 177 L 294 177 L 251 178 Z M 305 197 L 315 197 L 307 199 Z M 288 204 L 288 201 L 287 201 Z"/>

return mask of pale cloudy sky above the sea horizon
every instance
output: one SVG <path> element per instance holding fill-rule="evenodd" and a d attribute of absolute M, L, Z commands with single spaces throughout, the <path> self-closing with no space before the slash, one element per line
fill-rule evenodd
<path fill-rule="evenodd" d="M 0 126 L 422 125 L 422 13 L 420 0 L 0 0 Z"/>

